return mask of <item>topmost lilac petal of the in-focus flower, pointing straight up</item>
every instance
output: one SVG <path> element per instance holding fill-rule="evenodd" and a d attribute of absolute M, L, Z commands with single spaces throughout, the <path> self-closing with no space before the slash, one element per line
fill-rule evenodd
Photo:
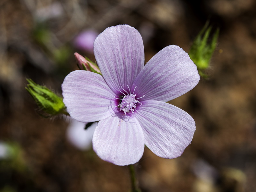
<path fill-rule="evenodd" d="M 108 86 L 132 87 L 144 66 L 144 47 L 140 33 L 129 25 L 107 28 L 94 42 L 94 54 Z"/>

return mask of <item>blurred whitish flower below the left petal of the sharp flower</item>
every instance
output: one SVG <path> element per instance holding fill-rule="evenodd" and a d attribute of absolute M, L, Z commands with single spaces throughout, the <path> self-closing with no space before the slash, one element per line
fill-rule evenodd
<path fill-rule="evenodd" d="M 69 142 L 78 149 L 88 150 L 92 146 L 92 135 L 97 124 L 98 123 L 95 122 L 87 129 L 84 129 L 86 123 L 70 118 L 70 124 L 67 130 Z"/>

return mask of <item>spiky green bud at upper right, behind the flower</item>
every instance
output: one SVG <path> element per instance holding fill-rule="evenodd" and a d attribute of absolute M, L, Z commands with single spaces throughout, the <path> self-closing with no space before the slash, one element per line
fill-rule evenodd
<path fill-rule="evenodd" d="M 212 54 L 216 49 L 217 39 L 219 36 L 219 29 L 215 31 L 212 36 L 212 41 L 209 42 L 210 32 L 212 27 L 208 27 L 209 22 L 204 25 L 204 28 L 199 32 L 194 40 L 189 57 L 196 64 L 198 72 L 201 76 L 205 76 L 203 71 L 209 67 Z"/>

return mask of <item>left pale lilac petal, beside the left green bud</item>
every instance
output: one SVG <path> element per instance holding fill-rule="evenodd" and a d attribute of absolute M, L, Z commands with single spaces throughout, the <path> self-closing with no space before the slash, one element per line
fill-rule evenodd
<path fill-rule="evenodd" d="M 62 94 L 69 115 L 77 121 L 93 122 L 111 116 L 110 102 L 115 94 L 99 74 L 84 70 L 69 73 Z"/>

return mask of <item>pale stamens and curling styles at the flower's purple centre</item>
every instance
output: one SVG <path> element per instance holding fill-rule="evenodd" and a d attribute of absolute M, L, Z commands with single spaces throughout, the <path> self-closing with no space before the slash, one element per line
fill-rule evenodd
<path fill-rule="evenodd" d="M 140 103 L 140 105 L 142 105 L 142 103 L 138 99 L 145 96 L 145 95 L 143 95 L 140 98 L 136 98 L 136 94 L 134 94 L 136 86 L 133 90 L 133 93 L 131 93 L 131 89 L 128 85 L 127 85 L 127 87 L 129 89 L 129 93 L 125 89 L 123 89 L 121 86 L 121 89 L 124 92 L 119 90 L 119 88 L 117 90 L 119 92 L 121 92 L 123 95 L 121 95 L 121 98 L 116 98 L 116 99 L 120 100 L 119 105 L 117 105 L 116 107 L 119 107 L 120 111 L 124 111 L 124 115 L 126 115 L 126 113 L 128 113 L 129 111 L 131 111 L 132 113 L 134 113 L 135 110 L 137 111 L 136 104 Z"/>

